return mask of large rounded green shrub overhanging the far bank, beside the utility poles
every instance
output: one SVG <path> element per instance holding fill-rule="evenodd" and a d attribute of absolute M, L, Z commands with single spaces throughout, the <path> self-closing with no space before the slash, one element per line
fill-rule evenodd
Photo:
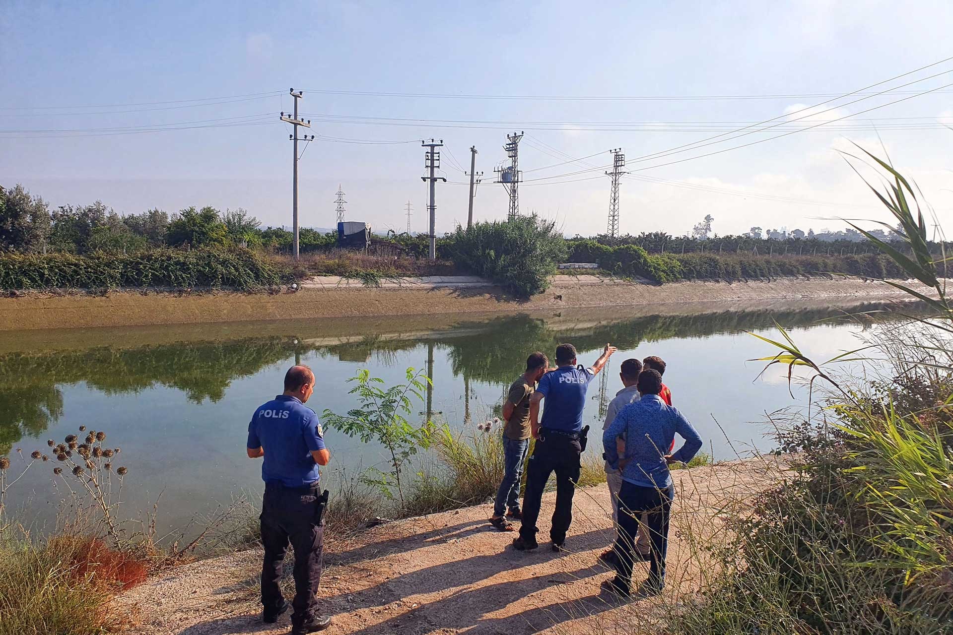
<path fill-rule="evenodd" d="M 556 224 L 536 214 L 508 221 L 457 226 L 447 250 L 456 266 L 489 278 L 518 297 L 549 287 L 567 254 Z"/>

